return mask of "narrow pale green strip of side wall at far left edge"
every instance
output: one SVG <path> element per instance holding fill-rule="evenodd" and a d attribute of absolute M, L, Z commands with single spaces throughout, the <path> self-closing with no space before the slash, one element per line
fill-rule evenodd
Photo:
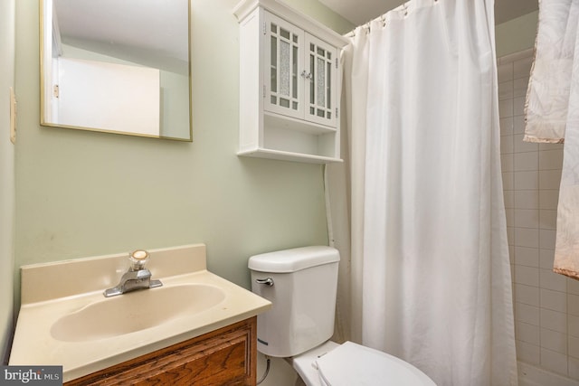
<path fill-rule="evenodd" d="M 0 363 L 14 328 L 14 146 L 9 139 L 10 92 L 14 88 L 15 0 L 0 1 Z"/>

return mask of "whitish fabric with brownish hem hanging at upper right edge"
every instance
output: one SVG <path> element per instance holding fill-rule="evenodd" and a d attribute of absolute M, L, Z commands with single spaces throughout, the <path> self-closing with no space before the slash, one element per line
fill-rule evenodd
<path fill-rule="evenodd" d="M 579 1 L 539 2 L 525 140 L 563 142 L 553 270 L 579 279 Z"/>

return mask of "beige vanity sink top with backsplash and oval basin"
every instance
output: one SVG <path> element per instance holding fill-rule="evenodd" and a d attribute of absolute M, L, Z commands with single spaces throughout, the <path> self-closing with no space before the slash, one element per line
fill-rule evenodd
<path fill-rule="evenodd" d="M 103 291 L 120 284 L 126 252 L 23 266 L 9 364 L 58 364 L 66 383 L 271 308 L 270 301 L 208 271 L 204 244 L 149 252 L 148 269 L 163 287 L 115 297 Z"/>

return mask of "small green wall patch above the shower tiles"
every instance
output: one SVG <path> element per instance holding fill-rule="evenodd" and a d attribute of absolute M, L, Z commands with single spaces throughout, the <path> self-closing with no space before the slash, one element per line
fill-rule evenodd
<path fill-rule="evenodd" d="M 495 27 L 498 58 L 535 47 L 538 14 L 525 14 Z"/>

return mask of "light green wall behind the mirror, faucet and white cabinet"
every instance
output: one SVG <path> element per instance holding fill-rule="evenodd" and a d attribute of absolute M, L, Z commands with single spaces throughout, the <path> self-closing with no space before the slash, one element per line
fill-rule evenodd
<path fill-rule="evenodd" d="M 321 165 L 235 154 L 236 3 L 193 0 L 194 142 L 183 143 L 40 127 L 38 1 L 17 2 L 16 278 L 25 264 L 204 242 L 209 268 L 248 287 L 252 254 L 327 244 Z M 351 28 L 317 1 L 289 3 Z"/>

